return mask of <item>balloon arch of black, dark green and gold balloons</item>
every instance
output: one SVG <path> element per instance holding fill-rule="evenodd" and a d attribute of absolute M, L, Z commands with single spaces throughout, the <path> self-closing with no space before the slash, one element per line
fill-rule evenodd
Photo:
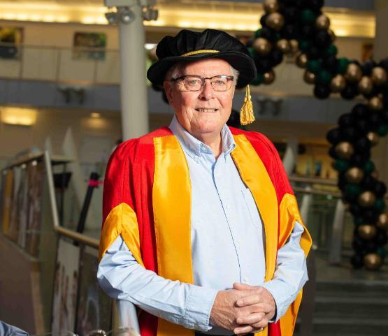
<path fill-rule="evenodd" d="M 338 188 L 354 219 L 354 268 L 381 267 L 387 251 L 388 213 L 385 212 L 385 184 L 378 180 L 371 161 L 371 147 L 388 133 L 388 58 L 364 64 L 336 57 L 335 34 L 322 7 L 324 0 L 265 0 L 262 28 L 247 47 L 257 66 L 252 85 L 275 80 L 273 67 L 283 55 L 295 54 L 296 65 L 306 68 L 303 79 L 314 85 L 319 99 L 339 93 L 344 99 L 360 94 L 351 112 L 341 115 L 338 127 L 327 133 L 329 155 L 338 170 Z"/>

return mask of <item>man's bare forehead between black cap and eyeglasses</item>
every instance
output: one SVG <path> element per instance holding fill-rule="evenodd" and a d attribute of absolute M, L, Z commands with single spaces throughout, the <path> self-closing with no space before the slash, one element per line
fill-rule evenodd
<path fill-rule="evenodd" d="M 182 67 L 182 73 L 185 75 L 203 75 L 204 77 L 231 75 L 230 72 L 231 65 L 223 59 L 201 59 Z"/>

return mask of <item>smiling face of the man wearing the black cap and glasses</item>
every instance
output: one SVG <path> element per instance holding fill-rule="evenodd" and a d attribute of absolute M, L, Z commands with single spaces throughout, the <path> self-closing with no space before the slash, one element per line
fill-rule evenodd
<path fill-rule="evenodd" d="M 200 75 L 210 78 L 232 73 L 227 61 L 204 59 L 185 65 L 180 75 Z M 164 82 L 164 89 L 178 121 L 189 133 L 199 139 L 206 134 L 220 134 L 222 126 L 231 114 L 233 84 L 224 92 L 214 91 L 210 80 L 206 80 L 206 85 L 197 92 L 180 91 L 176 82 Z"/>

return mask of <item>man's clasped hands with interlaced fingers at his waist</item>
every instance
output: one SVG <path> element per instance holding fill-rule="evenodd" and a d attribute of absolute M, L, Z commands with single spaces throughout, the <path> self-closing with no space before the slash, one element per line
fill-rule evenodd
<path fill-rule="evenodd" d="M 259 333 L 275 316 L 275 300 L 261 286 L 233 284 L 233 289 L 219 291 L 210 312 L 210 323 L 236 335 Z"/>

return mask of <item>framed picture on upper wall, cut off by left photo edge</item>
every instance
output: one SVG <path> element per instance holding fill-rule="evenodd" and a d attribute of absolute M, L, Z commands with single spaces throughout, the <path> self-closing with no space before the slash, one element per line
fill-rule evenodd
<path fill-rule="evenodd" d="M 20 59 L 22 42 L 22 27 L 0 26 L 0 59 Z"/>

